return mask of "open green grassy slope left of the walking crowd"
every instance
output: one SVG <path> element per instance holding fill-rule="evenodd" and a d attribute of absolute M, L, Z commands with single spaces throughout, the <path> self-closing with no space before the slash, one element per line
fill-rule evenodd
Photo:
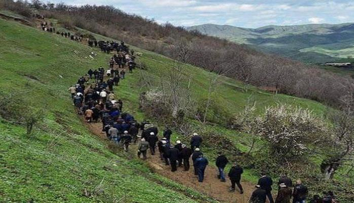
<path fill-rule="evenodd" d="M 213 201 L 117 155 L 78 119 L 67 88 L 108 55 L 90 59 L 93 50 L 79 43 L 16 22 L 0 19 L 0 26 L 0 90 L 48 111 L 31 137 L 0 120 L 1 202 Z"/>

